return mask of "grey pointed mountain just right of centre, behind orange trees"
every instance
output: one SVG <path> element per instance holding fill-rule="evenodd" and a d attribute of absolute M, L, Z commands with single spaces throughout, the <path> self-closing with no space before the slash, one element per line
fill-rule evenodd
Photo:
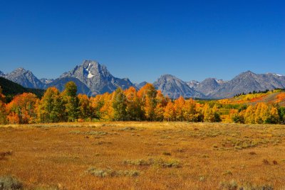
<path fill-rule="evenodd" d="M 190 88 L 186 82 L 171 75 L 164 74 L 157 81 L 153 83 L 156 89 L 162 91 L 162 94 L 170 97 L 171 99 L 177 99 L 180 96 L 185 98 L 200 98 L 203 99 L 206 96 L 195 89 Z"/>

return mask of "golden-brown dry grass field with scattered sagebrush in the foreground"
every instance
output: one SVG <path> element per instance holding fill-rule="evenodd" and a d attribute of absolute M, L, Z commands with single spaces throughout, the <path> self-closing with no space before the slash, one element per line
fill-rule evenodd
<path fill-rule="evenodd" d="M 285 189 L 285 125 L 6 125 L 9 175 L 25 189 Z"/>

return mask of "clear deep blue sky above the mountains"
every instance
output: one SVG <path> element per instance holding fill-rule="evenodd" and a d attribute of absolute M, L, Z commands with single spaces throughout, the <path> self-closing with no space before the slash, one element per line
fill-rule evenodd
<path fill-rule="evenodd" d="M 285 1 L 0 1 L 0 70 L 56 78 L 83 60 L 153 82 L 285 74 Z"/>

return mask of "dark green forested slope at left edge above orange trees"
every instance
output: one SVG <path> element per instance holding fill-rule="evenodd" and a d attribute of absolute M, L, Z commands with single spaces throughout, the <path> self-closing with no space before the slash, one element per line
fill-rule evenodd
<path fill-rule="evenodd" d="M 0 86 L 3 90 L 2 93 L 6 96 L 7 101 L 11 101 L 11 99 L 16 96 L 17 94 L 23 94 L 24 92 L 31 92 L 36 94 L 39 98 L 43 96 L 44 90 L 43 89 L 28 89 L 20 84 L 15 82 L 11 82 L 4 77 L 0 77 Z"/>

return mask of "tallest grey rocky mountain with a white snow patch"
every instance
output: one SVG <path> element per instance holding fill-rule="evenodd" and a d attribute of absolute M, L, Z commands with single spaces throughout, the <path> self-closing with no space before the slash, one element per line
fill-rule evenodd
<path fill-rule="evenodd" d="M 70 72 L 65 72 L 60 78 L 73 77 L 86 84 L 93 94 L 103 94 L 115 91 L 118 87 L 128 89 L 134 86 L 129 79 L 119 79 L 113 77 L 105 65 L 100 65 L 92 60 L 85 60 L 81 65 L 77 65 Z"/>

